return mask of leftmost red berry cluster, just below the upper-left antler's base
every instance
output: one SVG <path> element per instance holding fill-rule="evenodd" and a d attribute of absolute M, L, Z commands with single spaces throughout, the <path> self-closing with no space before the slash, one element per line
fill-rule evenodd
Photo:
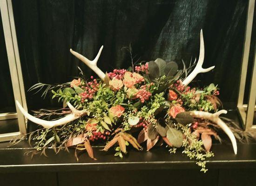
<path fill-rule="evenodd" d="M 91 76 L 91 79 L 94 79 L 94 77 Z M 86 90 L 80 94 L 81 103 L 83 103 L 85 99 L 93 99 L 94 93 L 98 90 L 99 83 L 96 79 L 89 81 L 87 84 L 88 86 L 82 86 L 82 88 Z"/>

